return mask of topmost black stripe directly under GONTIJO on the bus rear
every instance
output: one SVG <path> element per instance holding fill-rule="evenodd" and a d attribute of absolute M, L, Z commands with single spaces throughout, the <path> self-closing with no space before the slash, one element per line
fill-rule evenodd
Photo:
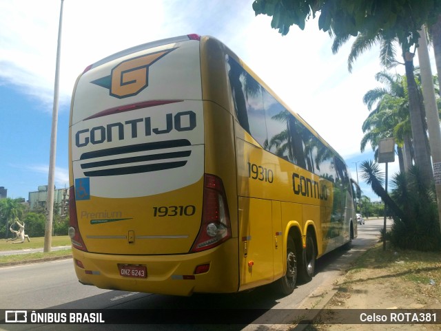
<path fill-rule="evenodd" d="M 135 153 L 139 151 L 152 151 L 155 149 L 166 149 L 174 147 L 185 147 L 190 146 L 190 142 L 187 139 L 179 140 L 167 140 L 158 142 L 147 142 L 145 144 L 137 144 L 122 147 L 113 147 L 108 149 L 101 149 L 99 151 L 89 151 L 81 154 L 80 160 L 88 160 L 91 158 L 101 158 L 103 156 L 112 156 L 125 153 Z"/>

